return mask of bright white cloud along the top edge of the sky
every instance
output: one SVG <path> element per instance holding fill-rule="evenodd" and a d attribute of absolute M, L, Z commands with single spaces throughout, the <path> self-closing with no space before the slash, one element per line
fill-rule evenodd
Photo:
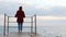
<path fill-rule="evenodd" d="M 66 7 L 66 0 L 0 0 L 0 1 L 25 3 L 29 5 Z"/>

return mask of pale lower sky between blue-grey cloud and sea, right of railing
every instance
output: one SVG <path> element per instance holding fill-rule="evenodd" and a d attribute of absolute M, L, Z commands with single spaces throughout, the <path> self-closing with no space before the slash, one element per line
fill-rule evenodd
<path fill-rule="evenodd" d="M 66 17 L 37 16 L 37 26 L 66 26 Z"/>

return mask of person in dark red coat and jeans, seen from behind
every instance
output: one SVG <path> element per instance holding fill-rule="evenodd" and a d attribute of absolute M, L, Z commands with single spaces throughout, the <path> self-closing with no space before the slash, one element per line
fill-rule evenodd
<path fill-rule="evenodd" d="M 25 14 L 24 14 L 24 11 L 22 10 L 22 7 L 20 7 L 19 10 L 16 11 L 15 17 L 16 17 L 16 22 L 18 22 L 18 29 L 20 33 L 20 32 L 22 32 L 23 21 L 25 17 Z"/>

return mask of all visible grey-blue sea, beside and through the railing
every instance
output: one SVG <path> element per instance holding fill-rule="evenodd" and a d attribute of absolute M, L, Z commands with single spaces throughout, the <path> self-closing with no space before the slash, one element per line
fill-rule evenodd
<path fill-rule="evenodd" d="M 37 26 L 37 33 L 43 37 L 66 37 L 66 27 L 64 26 Z M 18 32 L 16 26 L 10 26 L 9 33 Z M 24 26 L 23 32 L 31 32 L 30 26 Z M 33 28 L 34 32 L 34 28 Z M 3 27 L 0 26 L 0 34 L 3 34 Z"/>

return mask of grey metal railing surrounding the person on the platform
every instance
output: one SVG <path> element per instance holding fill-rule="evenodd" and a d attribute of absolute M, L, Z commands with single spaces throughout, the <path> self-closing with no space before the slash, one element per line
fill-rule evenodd
<path fill-rule="evenodd" d="M 8 21 L 6 20 L 6 16 L 8 17 Z M 9 23 L 16 23 L 16 22 L 9 22 L 9 17 L 14 17 L 14 16 L 8 16 L 6 13 L 4 13 L 4 26 L 3 26 L 3 35 L 6 35 L 7 33 L 9 34 Z M 31 33 L 33 33 L 33 25 L 35 25 L 35 35 L 36 35 L 36 14 L 33 15 L 33 16 L 26 16 L 26 17 L 31 17 L 31 22 L 24 22 L 24 23 L 31 23 Z M 34 22 L 33 22 L 33 18 L 34 18 Z M 6 24 L 8 23 L 8 25 Z M 33 24 L 35 23 L 35 24 Z"/>

